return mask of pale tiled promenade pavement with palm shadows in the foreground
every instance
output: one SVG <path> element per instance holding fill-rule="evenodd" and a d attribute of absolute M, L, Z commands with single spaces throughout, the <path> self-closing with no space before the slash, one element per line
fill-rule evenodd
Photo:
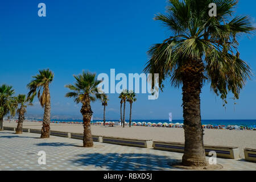
<path fill-rule="evenodd" d="M 0 170 L 180 170 L 168 162 L 180 160 L 183 154 L 168 151 L 118 146 L 94 142 L 83 148 L 82 141 L 14 131 L 0 132 Z M 39 151 L 46 152 L 46 164 L 39 165 Z M 254 170 L 256 163 L 220 159 L 222 170 Z"/>

